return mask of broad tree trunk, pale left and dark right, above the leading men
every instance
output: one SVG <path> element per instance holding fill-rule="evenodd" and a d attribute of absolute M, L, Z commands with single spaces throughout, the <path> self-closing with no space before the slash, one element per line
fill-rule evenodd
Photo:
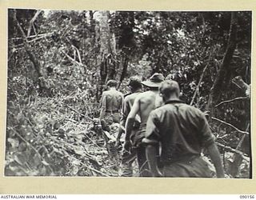
<path fill-rule="evenodd" d="M 134 42 L 134 12 L 118 12 L 118 16 L 126 18 L 120 24 L 118 40 L 114 33 L 110 31 L 109 12 L 101 11 L 99 18 L 99 40 L 100 40 L 100 90 L 110 79 L 116 80 L 120 86 L 126 76 L 130 55 L 133 53 Z M 120 34 L 120 35 L 119 35 Z"/>

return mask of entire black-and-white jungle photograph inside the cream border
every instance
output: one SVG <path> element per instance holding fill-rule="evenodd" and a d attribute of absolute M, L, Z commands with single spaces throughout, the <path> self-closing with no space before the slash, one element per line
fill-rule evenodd
<path fill-rule="evenodd" d="M 6 18 L 5 177 L 253 178 L 250 10 Z"/>

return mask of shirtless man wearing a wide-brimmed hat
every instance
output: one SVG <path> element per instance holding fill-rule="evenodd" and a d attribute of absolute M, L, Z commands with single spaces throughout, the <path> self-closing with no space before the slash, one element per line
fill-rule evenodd
<path fill-rule="evenodd" d="M 158 86 L 164 80 L 162 74 L 153 74 L 148 81 L 142 82 L 144 86 L 147 86 L 150 90 L 138 94 L 138 97 L 134 101 L 134 105 L 130 110 L 130 114 L 126 119 L 126 142 L 124 145 L 125 150 L 130 150 L 131 147 L 135 148 L 138 159 L 139 175 L 142 177 L 150 176 L 148 164 L 146 162 L 145 147 L 142 146 L 142 138 L 146 132 L 146 121 L 150 115 L 150 112 L 155 108 L 155 100 L 158 95 Z M 141 124 L 139 130 L 131 137 L 135 116 L 141 118 Z M 133 142 L 131 142 L 133 141 Z"/>

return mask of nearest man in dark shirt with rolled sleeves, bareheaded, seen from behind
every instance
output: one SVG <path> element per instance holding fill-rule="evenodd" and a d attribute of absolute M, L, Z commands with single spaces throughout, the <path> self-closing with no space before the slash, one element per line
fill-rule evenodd
<path fill-rule="evenodd" d="M 205 147 L 214 162 L 217 177 L 224 177 L 214 135 L 202 111 L 180 101 L 178 82 L 162 82 L 159 91 L 165 105 L 150 113 L 146 138 L 143 139 L 151 174 L 154 177 L 210 178 L 210 169 L 201 156 Z M 159 143 L 162 146 L 162 172 L 156 157 Z"/>

